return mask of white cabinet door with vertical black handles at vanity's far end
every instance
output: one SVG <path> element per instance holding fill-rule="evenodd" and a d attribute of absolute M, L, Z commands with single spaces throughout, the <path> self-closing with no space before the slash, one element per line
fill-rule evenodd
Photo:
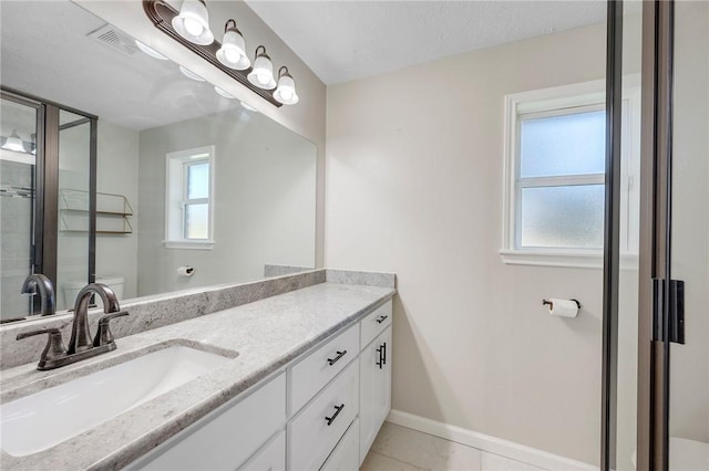
<path fill-rule="evenodd" d="M 360 465 L 391 409 L 391 326 L 360 354 Z"/>

